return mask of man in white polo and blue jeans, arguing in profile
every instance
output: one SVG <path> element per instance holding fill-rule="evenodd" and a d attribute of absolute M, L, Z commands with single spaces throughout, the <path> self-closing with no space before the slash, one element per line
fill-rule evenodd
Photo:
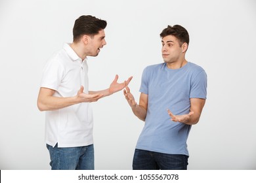
<path fill-rule="evenodd" d="M 94 169 L 93 113 L 91 102 L 125 88 L 131 81 L 117 83 L 98 92 L 89 91 L 87 56 L 97 56 L 106 45 L 107 23 L 94 16 L 75 20 L 71 44 L 49 59 L 43 71 L 37 99 L 46 111 L 45 141 L 51 169 Z"/>

